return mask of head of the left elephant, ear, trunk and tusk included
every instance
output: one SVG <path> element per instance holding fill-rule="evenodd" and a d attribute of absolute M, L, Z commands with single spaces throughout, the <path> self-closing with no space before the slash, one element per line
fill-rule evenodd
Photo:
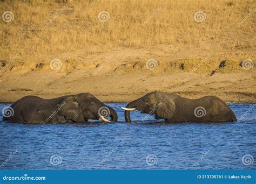
<path fill-rule="evenodd" d="M 84 122 L 87 119 L 102 119 L 104 122 L 116 122 L 117 113 L 89 93 L 66 96 L 58 104 L 60 116 L 67 121 Z M 110 117 L 110 121 L 106 117 Z"/>

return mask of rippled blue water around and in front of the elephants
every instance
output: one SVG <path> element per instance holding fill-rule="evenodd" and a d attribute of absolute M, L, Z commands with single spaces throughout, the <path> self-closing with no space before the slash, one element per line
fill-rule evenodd
<path fill-rule="evenodd" d="M 9 105 L 0 104 L 0 110 Z M 138 111 L 131 112 L 133 123 L 125 123 L 126 104 L 107 105 L 117 111 L 117 123 L 0 122 L 0 169 L 256 168 L 253 104 L 230 104 L 237 118 L 244 118 L 218 124 L 166 124 Z M 242 162 L 246 154 L 249 165 Z"/>

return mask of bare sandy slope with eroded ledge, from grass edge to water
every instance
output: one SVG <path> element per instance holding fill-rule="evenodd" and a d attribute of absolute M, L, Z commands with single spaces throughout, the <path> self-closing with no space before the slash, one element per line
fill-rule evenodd
<path fill-rule="evenodd" d="M 232 72 L 227 63 L 211 76 L 211 70 L 218 68 L 217 61 L 194 66 L 184 61 L 181 69 L 173 55 L 174 60 L 167 62 L 159 57 L 161 53 L 148 52 L 120 48 L 104 54 L 63 53 L 55 57 L 62 63 L 59 70 L 51 69 L 50 62 L 16 62 L 2 68 L 0 101 L 14 102 L 25 95 L 53 98 L 87 92 L 104 102 L 129 102 L 157 90 L 188 98 L 215 95 L 225 102 L 256 102 L 255 68 L 245 70 L 236 63 L 238 69 Z M 189 57 L 185 50 L 180 52 Z M 156 69 L 146 67 L 150 55 L 156 56 Z"/>

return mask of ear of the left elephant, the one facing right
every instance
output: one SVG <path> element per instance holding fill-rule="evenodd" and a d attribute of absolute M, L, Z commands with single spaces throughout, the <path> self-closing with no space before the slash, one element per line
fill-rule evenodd
<path fill-rule="evenodd" d="M 58 114 L 60 116 L 64 116 L 67 120 L 71 120 L 73 122 L 84 121 L 83 109 L 72 96 L 66 97 L 60 101 L 58 104 L 58 109 Z"/>

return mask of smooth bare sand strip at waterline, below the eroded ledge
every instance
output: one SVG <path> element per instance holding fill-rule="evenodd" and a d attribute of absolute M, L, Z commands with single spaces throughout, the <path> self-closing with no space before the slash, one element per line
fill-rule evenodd
<path fill-rule="evenodd" d="M 94 70 L 95 71 L 95 70 Z M 255 72 L 246 73 L 129 73 L 91 76 L 85 69 L 68 75 L 53 70 L 1 77 L 0 101 L 14 102 L 26 95 L 53 98 L 91 93 L 103 102 L 129 102 L 151 91 L 161 90 L 187 98 L 206 95 L 225 102 L 256 102 Z"/>

